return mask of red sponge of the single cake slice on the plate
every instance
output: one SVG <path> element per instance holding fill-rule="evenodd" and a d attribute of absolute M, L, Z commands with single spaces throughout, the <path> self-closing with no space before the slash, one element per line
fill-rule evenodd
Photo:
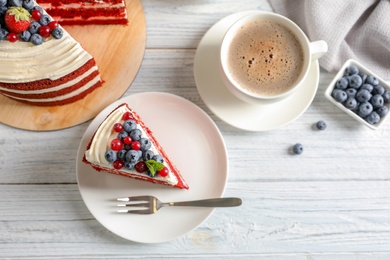
<path fill-rule="evenodd" d="M 172 173 L 176 176 L 176 178 L 178 180 L 178 183 L 175 186 L 173 186 L 173 187 L 180 188 L 180 189 L 189 189 L 188 184 L 185 182 L 185 180 L 181 176 L 179 170 L 172 163 L 171 159 L 168 157 L 168 155 L 166 154 L 165 150 L 162 148 L 160 143 L 154 137 L 153 132 L 145 125 L 145 123 L 142 121 L 141 117 L 134 110 L 132 110 L 128 106 L 128 104 L 126 104 L 126 103 L 123 103 L 123 104 L 119 105 L 116 109 L 118 109 L 121 106 L 126 106 L 126 108 L 130 111 L 130 113 L 133 115 L 133 120 L 137 123 L 137 125 L 139 125 L 144 130 L 144 132 L 147 135 L 147 138 L 153 143 L 153 145 L 156 147 L 158 153 L 164 158 L 164 163 L 166 163 L 170 167 L 170 169 L 172 170 Z M 111 111 L 111 113 L 106 117 L 106 119 L 116 109 Z M 99 125 L 98 129 L 102 126 L 103 122 Z M 95 131 L 95 133 L 91 137 L 91 140 L 89 141 L 89 143 L 88 143 L 88 145 L 86 147 L 86 151 L 91 148 L 91 144 L 92 144 L 92 141 L 93 141 L 93 139 L 95 137 L 96 132 L 97 132 L 97 130 Z M 168 184 L 168 183 L 166 183 L 166 182 L 164 182 L 162 180 L 158 180 L 158 179 L 155 179 L 153 177 L 149 177 L 146 174 L 145 175 L 133 174 L 133 173 L 126 172 L 126 171 L 116 170 L 116 169 L 107 168 L 107 167 L 104 167 L 104 166 L 101 166 L 101 165 L 92 164 L 91 162 L 87 161 L 85 155 L 83 157 L 83 162 L 86 163 L 86 164 L 91 165 L 96 171 L 99 171 L 99 172 L 100 171 L 104 171 L 104 172 L 111 173 L 111 174 L 121 175 L 121 176 L 125 176 L 125 177 L 128 177 L 128 178 L 134 178 L 134 179 L 137 179 L 137 180 L 148 181 L 148 182 L 152 182 L 152 183 L 156 183 L 156 184 L 168 185 L 168 186 L 172 187 L 172 185 L 170 185 L 170 184 Z"/>

